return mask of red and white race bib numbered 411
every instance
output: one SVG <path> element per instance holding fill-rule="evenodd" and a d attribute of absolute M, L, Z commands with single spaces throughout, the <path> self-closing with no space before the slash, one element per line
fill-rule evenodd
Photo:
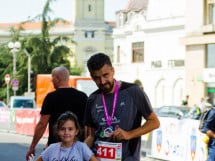
<path fill-rule="evenodd" d="M 121 161 L 122 143 L 99 141 L 96 149 L 96 157 L 100 161 Z"/>

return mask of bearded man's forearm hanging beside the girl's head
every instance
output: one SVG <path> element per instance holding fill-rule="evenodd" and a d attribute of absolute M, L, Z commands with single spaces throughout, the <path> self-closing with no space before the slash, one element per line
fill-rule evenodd
<path fill-rule="evenodd" d="M 88 147 L 92 147 L 93 146 L 93 142 L 95 139 L 95 129 L 85 126 L 84 127 L 84 134 L 85 134 L 85 140 L 84 142 L 88 145 Z"/>

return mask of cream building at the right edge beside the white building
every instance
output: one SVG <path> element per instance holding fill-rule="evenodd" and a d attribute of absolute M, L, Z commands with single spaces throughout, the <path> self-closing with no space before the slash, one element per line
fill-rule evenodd
<path fill-rule="evenodd" d="M 195 5 L 193 5 L 195 4 Z M 186 2 L 186 88 L 193 102 L 208 97 L 215 105 L 215 1 Z"/>

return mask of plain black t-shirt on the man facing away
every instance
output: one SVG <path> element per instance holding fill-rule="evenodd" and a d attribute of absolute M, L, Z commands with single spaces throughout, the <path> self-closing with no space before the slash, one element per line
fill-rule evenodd
<path fill-rule="evenodd" d="M 50 92 L 44 99 L 41 115 L 50 115 L 49 119 L 49 138 L 48 145 L 58 141 L 56 129 L 54 128 L 58 117 L 66 112 L 71 111 L 78 117 L 81 127 L 83 127 L 84 111 L 87 102 L 87 95 L 84 92 L 74 88 L 59 88 Z M 82 136 L 83 137 L 83 136 Z M 81 137 L 81 139 L 83 139 Z"/>

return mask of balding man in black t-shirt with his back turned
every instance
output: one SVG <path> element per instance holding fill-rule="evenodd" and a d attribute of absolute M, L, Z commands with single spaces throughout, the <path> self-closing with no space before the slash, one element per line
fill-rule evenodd
<path fill-rule="evenodd" d="M 49 124 L 49 136 L 47 146 L 58 142 L 58 137 L 54 133 L 54 124 L 57 118 L 65 111 L 71 111 L 78 117 L 78 121 L 83 128 L 83 113 L 87 102 L 87 95 L 69 86 L 69 71 L 60 66 L 52 70 L 52 83 L 56 89 L 47 94 L 44 99 L 40 120 L 36 125 L 31 145 L 26 154 L 26 160 L 29 160 L 31 154 L 35 154 L 35 147 L 43 136 L 47 125 Z M 83 136 L 80 138 L 83 141 Z"/>

